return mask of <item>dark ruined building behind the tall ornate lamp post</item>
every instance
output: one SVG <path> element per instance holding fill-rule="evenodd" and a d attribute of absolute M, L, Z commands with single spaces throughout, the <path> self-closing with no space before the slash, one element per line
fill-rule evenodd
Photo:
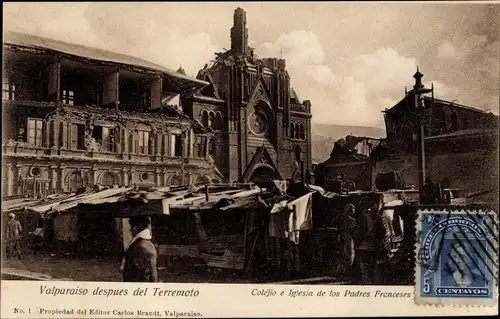
<path fill-rule="evenodd" d="M 437 98 L 424 98 L 426 177 L 444 188 L 491 192 L 498 199 L 498 116 Z M 370 154 L 372 187 L 379 174 L 396 172 L 418 187 L 416 111 L 403 98 L 384 112 L 387 138 Z"/>

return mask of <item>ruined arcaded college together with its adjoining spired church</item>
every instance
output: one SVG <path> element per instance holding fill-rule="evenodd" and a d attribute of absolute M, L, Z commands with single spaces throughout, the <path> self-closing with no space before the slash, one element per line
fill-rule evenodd
<path fill-rule="evenodd" d="M 231 49 L 196 78 L 123 54 L 4 36 L 3 195 L 309 173 L 311 103 L 285 60 L 259 59 L 238 8 Z"/>

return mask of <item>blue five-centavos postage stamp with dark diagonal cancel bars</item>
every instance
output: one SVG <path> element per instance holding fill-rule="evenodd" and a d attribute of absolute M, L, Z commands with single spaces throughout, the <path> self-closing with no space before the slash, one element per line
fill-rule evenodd
<path fill-rule="evenodd" d="M 419 209 L 416 229 L 416 303 L 497 303 L 496 212 L 475 208 Z"/>

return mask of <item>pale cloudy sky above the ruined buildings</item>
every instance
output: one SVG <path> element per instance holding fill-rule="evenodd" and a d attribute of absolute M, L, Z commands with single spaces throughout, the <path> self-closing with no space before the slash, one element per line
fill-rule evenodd
<path fill-rule="evenodd" d="M 500 6 L 485 3 L 5 3 L 4 30 L 134 55 L 188 75 L 230 48 L 237 7 L 259 57 L 286 59 L 312 121 L 384 127 L 416 67 L 435 97 L 498 114 Z"/>

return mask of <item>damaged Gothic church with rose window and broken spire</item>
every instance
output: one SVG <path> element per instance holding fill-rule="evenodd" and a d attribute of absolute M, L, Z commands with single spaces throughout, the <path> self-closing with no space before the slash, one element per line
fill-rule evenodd
<path fill-rule="evenodd" d="M 233 22 L 231 49 L 199 71 L 210 84 L 185 102 L 186 112 L 215 130 L 210 152 L 227 180 L 307 177 L 311 103 L 290 86 L 284 59 L 253 53 L 243 9 Z"/>

